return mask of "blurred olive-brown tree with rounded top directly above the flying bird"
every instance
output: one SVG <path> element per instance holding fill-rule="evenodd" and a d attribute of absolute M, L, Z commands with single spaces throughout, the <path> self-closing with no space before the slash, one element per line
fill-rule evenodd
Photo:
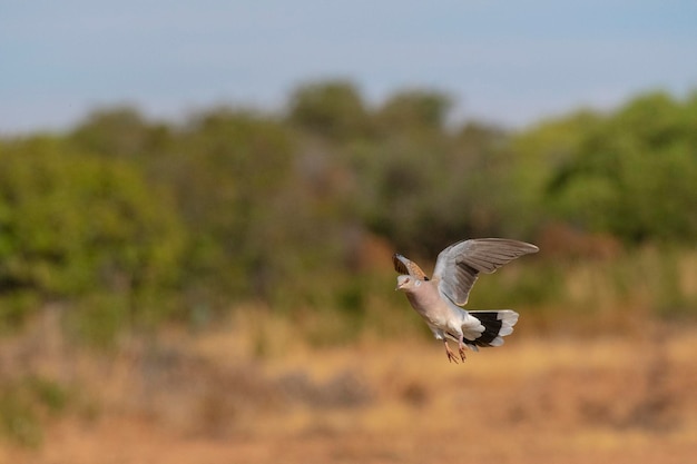
<path fill-rule="evenodd" d="M 451 129 L 451 107 L 439 92 L 396 93 L 376 111 L 380 138 L 350 155 L 364 224 L 404 251 L 434 256 L 443 244 L 500 230 L 504 134 L 477 124 Z"/>

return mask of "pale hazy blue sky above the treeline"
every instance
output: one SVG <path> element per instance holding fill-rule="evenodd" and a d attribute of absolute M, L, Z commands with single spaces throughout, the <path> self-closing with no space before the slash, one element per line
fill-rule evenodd
<path fill-rule="evenodd" d="M 350 79 L 371 103 L 436 89 L 459 118 L 522 127 L 580 106 L 697 89 L 697 2 L 94 0 L 0 4 L 0 134 L 96 107 L 179 119 L 282 109 Z"/>

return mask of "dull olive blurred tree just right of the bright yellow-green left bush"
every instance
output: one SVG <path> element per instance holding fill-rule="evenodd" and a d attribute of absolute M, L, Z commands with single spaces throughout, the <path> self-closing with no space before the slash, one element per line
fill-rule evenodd
<path fill-rule="evenodd" d="M 275 226 L 291 200 L 284 198 L 291 152 L 281 125 L 227 109 L 197 116 L 180 136 L 175 191 L 194 231 L 187 258 L 194 273 L 187 277 L 200 292 L 209 285 L 247 295 L 267 292 L 277 269 L 265 244 L 282 233 Z"/>

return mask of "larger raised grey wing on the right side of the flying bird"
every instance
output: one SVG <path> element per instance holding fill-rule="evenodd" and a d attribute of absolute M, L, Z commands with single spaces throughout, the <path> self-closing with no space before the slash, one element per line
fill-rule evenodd
<path fill-rule="evenodd" d="M 534 245 L 505 238 L 458 241 L 438 255 L 433 279 L 439 280 L 438 289 L 443 296 L 462 306 L 480 273 L 491 274 L 519 256 L 538 250 Z"/>

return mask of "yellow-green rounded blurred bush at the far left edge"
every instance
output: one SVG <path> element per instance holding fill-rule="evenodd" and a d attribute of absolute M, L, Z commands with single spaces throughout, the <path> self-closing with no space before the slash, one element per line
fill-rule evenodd
<path fill-rule="evenodd" d="M 119 294 L 146 322 L 153 294 L 178 279 L 184 245 L 165 196 L 135 167 L 55 139 L 6 144 L 0 164 L 0 299 L 14 308 L 3 323 L 23 318 L 27 295 L 36 309 L 94 294 Z"/>

